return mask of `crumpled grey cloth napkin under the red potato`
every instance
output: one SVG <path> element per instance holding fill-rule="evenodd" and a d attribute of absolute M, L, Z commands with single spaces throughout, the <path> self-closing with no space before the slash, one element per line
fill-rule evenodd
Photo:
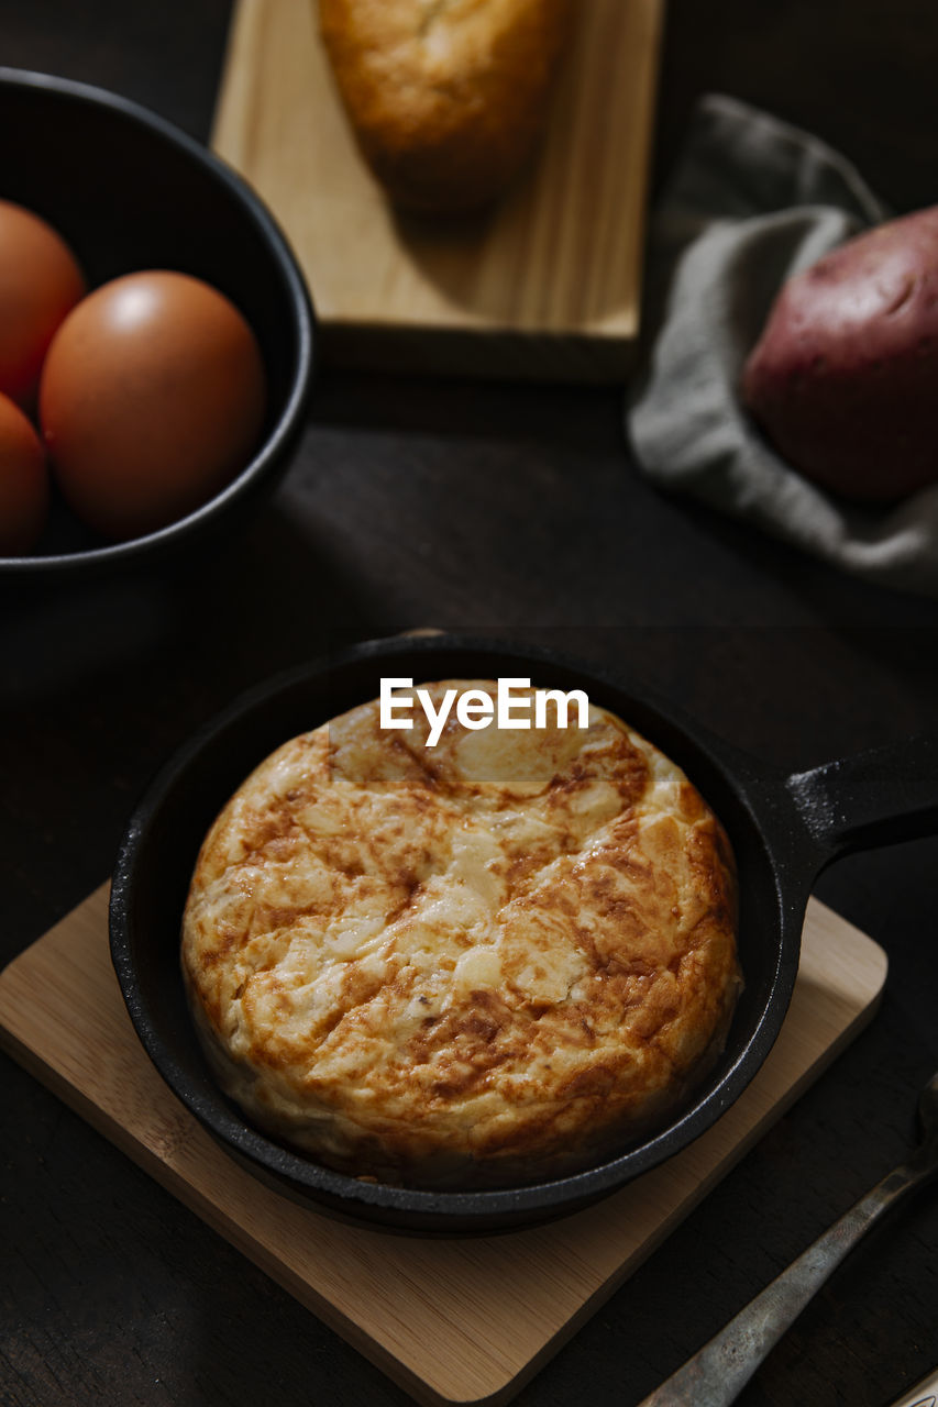
<path fill-rule="evenodd" d="M 938 595 L 938 485 L 896 507 L 846 504 L 786 464 L 738 401 L 784 279 L 887 217 L 815 136 L 704 98 L 652 225 L 651 345 L 627 422 L 639 467 L 662 488 L 869 581 Z"/>

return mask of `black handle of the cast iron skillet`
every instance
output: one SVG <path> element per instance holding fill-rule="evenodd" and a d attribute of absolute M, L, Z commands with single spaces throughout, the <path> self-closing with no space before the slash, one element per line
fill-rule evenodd
<path fill-rule="evenodd" d="M 938 832 L 938 737 L 910 737 L 789 777 L 825 860 Z"/>

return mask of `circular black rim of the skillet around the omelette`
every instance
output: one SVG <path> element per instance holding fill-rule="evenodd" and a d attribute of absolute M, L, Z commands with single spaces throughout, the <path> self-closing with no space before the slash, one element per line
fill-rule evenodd
<path fill-rule="evenodd" d="M 613 1158 L 555 1179 L 542 1179 L 521 1186 L 462 1190 L 361 1182 L 351 1175 L 335 1172 L 300 1152 L 294 1152 L 251 1126 L 214 1082 L 208 1085 L 208 1096 L 204 1097 L 200 1090 L 193 1089 L 192 1079 L 182 1069 L 170 1043 L 161 1034 L 159 1023 L 154 1021 L 141 989 L 132 953 L 130 900 L 141 854 L 145 860 L 146 834 L 154 817 L 159 816 L 159 808 L 166 805 L 173 788 L 187 775 L 193 764 L 206 756 L 207 749 L 213 744 L 223 746 L 227 733 L 238 723 L 256 715 L 265 705 L 270 706 L 275 699 L 282 698 L 290 689 L 303 687 L 303 684 L 311 685 L 314 681 L 335 678 L 344 668 L 354 668 L 403 653 L 413 654 L 414 651 L 427 654 L 428 658 L 441 656 L 444 651 L 524 658 L 531 661 L 534 667 L 544 666 L 573 671 L 580 678 L 596 682 L 601 689 L 610 692 L 625 695 L 634 688 L 634 684 L 623 680 L 618 671 L 544 646 L 461 633 L 365 640 L 273 674 L 241 692 L 197 729 L 168 758 L 144 791 L 121 839 L 114 867 L 108 913 L 110 951 L 131 1021 L 149 1059 L 176 1097 L 231 1155 L 246 1159 L 259 1176 L 273 1178 L 276 1183 L 283 1185 L 282 1190 L 299 1195 L 310 1204 L 318 1203 L 321 1210 L 328 1211 L 331 1207 L 334 1211 L 338 1210 L 341 1214 L 368 1221 L 379 1228 L 380 1221 L 387 1218 L 390 1227 L 386 1224 L 384 1230 L 408 1230 L 407 1220 L 413 1220 L 415 1227 L 425 1223 L 425 1225 L 417 1227 L 420 1230 L 446 1231 L 449 1227 L 458 1225 L 459 1230 L 469 1228 L 486 1234 L 500 1225 L 510 1228 L 579 1210 L 659 1166 L 711 1128 L 755 1078 L 782 1029 L 797 975 L 800 929 L 792 941 L 792 936 L 784 929 L 784 915 L 779 913 L 777 927 L 780 931 L 775 965 L 769 972 L 768 995 L 758 1007 L 742 1048 L 727 1067 L 718 1065 L 720 1075 L 713 1086 L 701 1097 L 692 1095 L 692 1103 L 656 1134 L 634 1145 L 627 1145 Z M 741 799 L 746 801 L 741 791 L 739 778 L 732 775 L 727 758 L 751 760 L 746 760 L 744 754 L 737 754 L 731 744 L 724 744 L 704 727 L 684 718 L 675 706 L 662 704 L 654 691 L 644 685 L 641 685 L 639 696 L 642 706 L 659 716 L 662 723 L 686 734 L 692 746 L 708 757 L 724 778 L 730 778 L 730 785 L 737 789 Z M 766 854 L 772 861 L 770 850 L 766 850 Z M 397 1225 L 394 1225 L 396 1221 Z M 410 1230 L 415 1227 L 410 1227 Z"/>

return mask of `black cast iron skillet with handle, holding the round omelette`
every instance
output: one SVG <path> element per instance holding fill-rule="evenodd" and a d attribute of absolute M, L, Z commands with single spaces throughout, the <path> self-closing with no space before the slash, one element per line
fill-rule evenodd
<path fill-rule="evenodd" d="M 382 675 L 531 678 L 584 688 L 677 761 L 724 822 L 741 877 L 745 992 L 727 1050 L 690 1107 L 659 1134 L 573 1176 L 507 1190 L 414 1192 L 358 1182 L 256 1133 L 217 1089 L 185 1005 L 179 923 L 204 832 L 231 792 L 282 741 L 377 696 Z M 490 1233 L 556 1217 L 615 1190 L 708 1128 L 769 1054 L 799 962 L 818 871 L 848 848 L 938 829 L 938 740 L 834 761 L 794 777 L 759 765 L 613 673 L 544 650 L 451 636 L 354 647 L 254 689 L 159 774 L 137 808 L 113 879 L 111 955 L 158 1071 L 237 1159 L 332 1214 L 404 1231 Z"/>

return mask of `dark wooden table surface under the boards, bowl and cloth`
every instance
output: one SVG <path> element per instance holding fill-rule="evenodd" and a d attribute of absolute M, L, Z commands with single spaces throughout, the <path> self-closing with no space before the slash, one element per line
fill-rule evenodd
<path fill-rule="evenodd" d="M 283 0 L 301 3 L 301 0 Z M 208 131 L 223 0 L 4 0 L 6 63 Z M 930 0 L 673 0 L 655 183 L 694 97 L 814 128 L 896 208 L 937 197 Z M 0 134 L 0 142 L 15 134 Z M 325 373 L 275 502 L 217 557 L 0 601 L 0 960 L 100 884 L 161 760 L 234 692 L 345 637 L 494 629 L 628 666 L 787 768 L 938 727 L 932 604 L 652 491 L 618 388 Z M 820 895 L 889 951 L 880 1013 L 518 1397 L 625 1407 L 887 1171 L 938 1067 L 938 840 L 839 861 Z M 0 1403 L 406 1394 L 0 1059 Z M 842 1268 L 741 1399 L 892 1401 L 938 1365 L 927 1193 Z"/>

